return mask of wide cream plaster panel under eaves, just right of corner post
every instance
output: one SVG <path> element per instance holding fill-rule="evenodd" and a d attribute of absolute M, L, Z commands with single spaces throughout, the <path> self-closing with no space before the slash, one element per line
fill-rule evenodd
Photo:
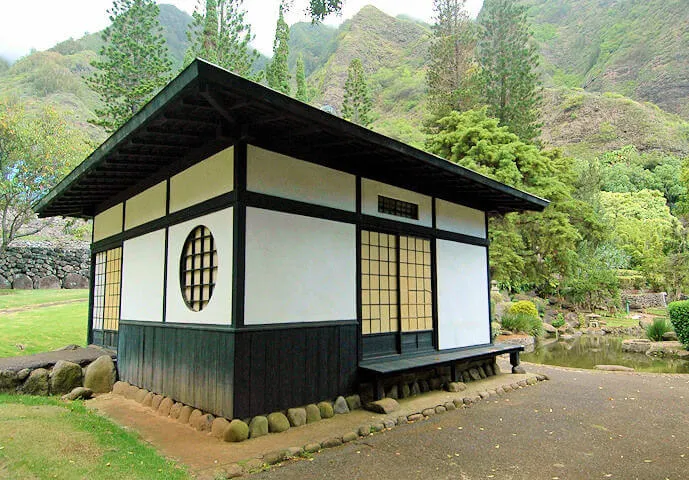
<path fill-rule="evenodd" d="M 247 148 L 247 188 L 331 208 L 356 210 L 356 177 L 253 145 Z"/>

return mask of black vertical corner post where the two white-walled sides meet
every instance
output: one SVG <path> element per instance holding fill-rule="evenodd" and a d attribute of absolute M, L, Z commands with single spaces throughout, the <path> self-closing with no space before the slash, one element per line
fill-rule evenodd
<path fill-rule="evenodd" d="M 232 229 L 232 325 L 244 326 L 246 299 L 246 182 L 247 144 L 237 142 L 234 146 L 234 191 L 236 202 L 233 211 Z"/>

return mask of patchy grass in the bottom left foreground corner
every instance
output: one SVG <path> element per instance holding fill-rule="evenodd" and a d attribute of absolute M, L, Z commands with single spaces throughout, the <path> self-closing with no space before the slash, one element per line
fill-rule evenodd
<path fill-rule="evenodd" d="M 185 469 L 82 402 L 24 395 L 0 395 L 0 476 L 189 478 Z"/>

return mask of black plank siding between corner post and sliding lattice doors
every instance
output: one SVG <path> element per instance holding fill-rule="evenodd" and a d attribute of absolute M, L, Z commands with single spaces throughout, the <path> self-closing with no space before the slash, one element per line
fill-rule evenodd
<path fill-rule="evenodd" d="M 352 393 L 355 321 L 237 330 L 234 414 L 244 418 Z"/>

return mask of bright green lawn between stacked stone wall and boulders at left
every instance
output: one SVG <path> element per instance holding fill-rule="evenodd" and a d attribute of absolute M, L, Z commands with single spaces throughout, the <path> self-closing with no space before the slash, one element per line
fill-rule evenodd
<path fill-rule="evenodd" d="M 55 350 L 72 343 L 83 345 L 86 342 L 87 295 L 83 290 L 34 290 L 21 291 L 16 296 L 0 296 L 0 309 L 7 308 L 3 305 L 19 308 L 60 300 L 84 300 L 0 314 L 0 358 Z"/>

